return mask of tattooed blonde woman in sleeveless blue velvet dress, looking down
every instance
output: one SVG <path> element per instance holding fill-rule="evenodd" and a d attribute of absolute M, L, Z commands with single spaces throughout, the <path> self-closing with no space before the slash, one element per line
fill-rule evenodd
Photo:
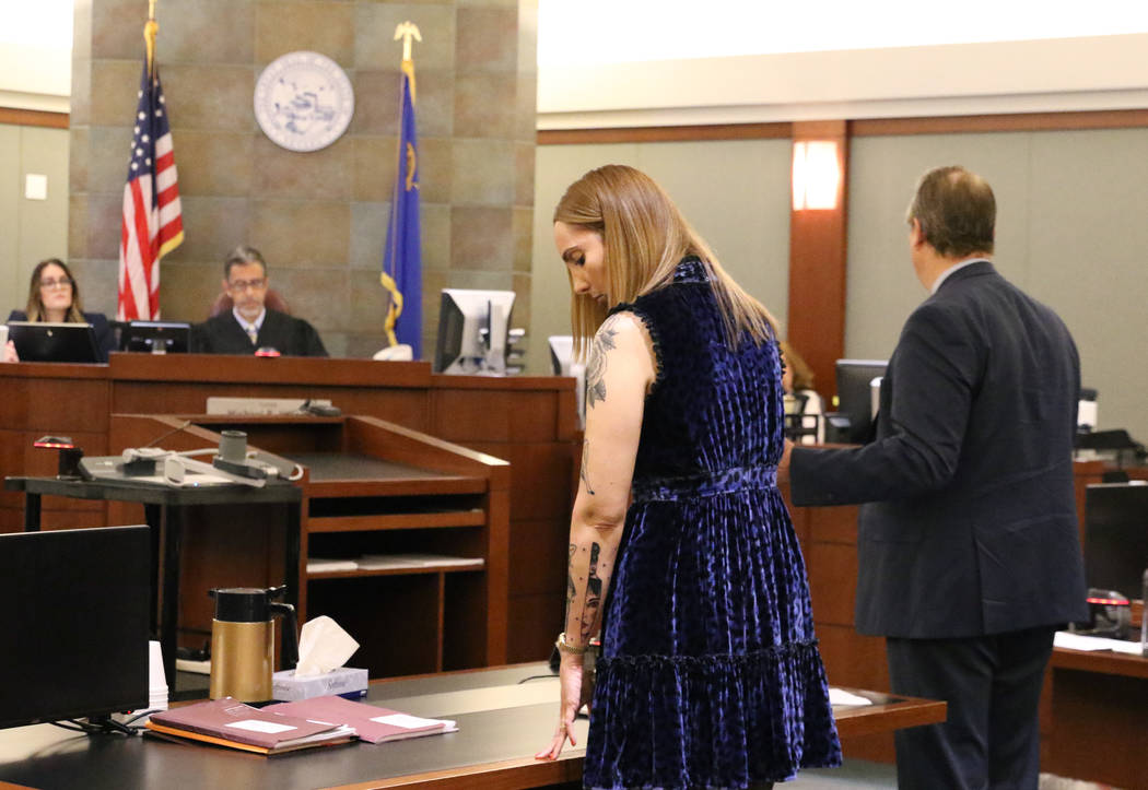
<path fill-rule="evenodd" d="M 781 360 L 743 291 L 649 177 L 620 165 L 554 211 L 589 346 L 558 730 L 575 743 L 602 634 L 588 788 L 762 788 L 840 764 L 805 566 L 775 476 Z"/>

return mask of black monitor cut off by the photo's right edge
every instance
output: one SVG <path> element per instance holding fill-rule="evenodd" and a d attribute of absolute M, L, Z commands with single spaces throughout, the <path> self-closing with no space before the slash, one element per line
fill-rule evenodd
<path fill-rule="evenodd" d="M 1140 597 L 1148 570 L 1148 485 L 1089 485 L 1084 502 L 1088 587 Z"/>

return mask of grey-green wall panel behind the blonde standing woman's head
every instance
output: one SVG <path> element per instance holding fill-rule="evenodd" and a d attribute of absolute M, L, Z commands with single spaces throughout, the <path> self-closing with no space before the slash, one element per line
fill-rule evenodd
<path fill-rule="evenodd" d="M 653 177 L 722 265 L 785 326 L 789 302 L 789 140 L 540 146 L 528 369 L 550 371 L 546 336 L 568 335 L 569 284 L 551 217 L 588 170 L 628 164 Z M 518 321 L 515 321 L 517 323 Z"/>

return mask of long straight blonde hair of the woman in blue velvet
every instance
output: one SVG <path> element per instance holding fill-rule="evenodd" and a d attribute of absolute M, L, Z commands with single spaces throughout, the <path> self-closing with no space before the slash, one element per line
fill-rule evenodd
<path fill-rule="evenodd" d="M 645 173 L 627 165 L 591 170 L 567 187 L 554 208 L 553 221 L 602 236 L 606 302 L 611 306 L 662 288 L 674 279 L 682 258 L 697 256 L 709 269 L 727 341 L 736 345 L 745 334 L 760 345 L 776 337 L 774 316 L 734 282 L 669 195 Z M 588 294 L 574 294 L 573 288 L 571 294 L 574 352 L 582 355 L 608 307 Z"/>

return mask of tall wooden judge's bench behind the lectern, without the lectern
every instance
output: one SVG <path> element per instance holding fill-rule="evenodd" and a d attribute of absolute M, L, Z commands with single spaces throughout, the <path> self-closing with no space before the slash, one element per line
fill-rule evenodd
<path fill-rule="evenodd" d="M 110 414 L 202 414 L 211 396 L 327 398 L 343 414 L 510 461 L 507 659 L 544 658 L 561 628 L 576 474 L 573 378 L 442 376 L 427 362 L 113 353 L 108 365 L 0 366 L 0 431 L 9 432 L 0 437 L 0 477 L 54 474 L 55 453 L 31 448 L 45 433 L 70 435 L 88 455 L 115 454 L 123 447 L 108 446 Z M 0 493 L 0 530 L 22 529 L 22 507 L 18 495 Z M 101 526 L 107 514 L 99 503 L 46 498 L 42 515 L 53 529 Z"/>

